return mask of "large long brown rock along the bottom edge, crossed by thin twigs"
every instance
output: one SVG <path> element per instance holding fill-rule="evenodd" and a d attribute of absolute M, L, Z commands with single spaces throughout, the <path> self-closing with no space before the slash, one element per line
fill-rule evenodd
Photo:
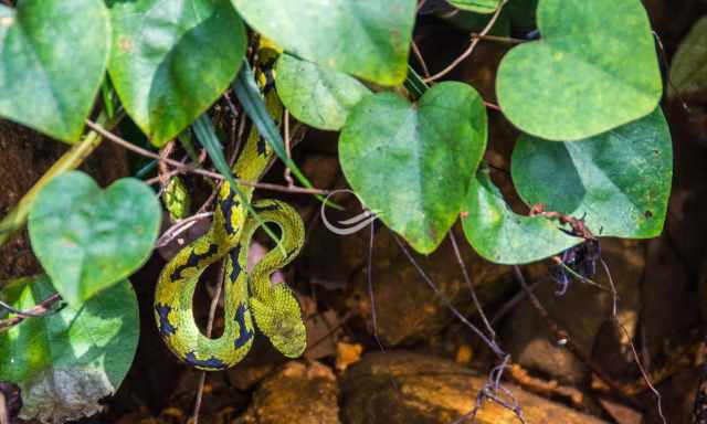
<path fill-rule="evenodd" d="M 468 413 L 487 382 L 467 368 L 437 357 L 404 351 L 370 353 L 341 379 L 341 417 L 349 424 L 452 423 Z M 523 407 L 528 423 L 599 424 L 603 421 L 504 384 Z M 485 402 L 477 424 L 516 424 L 518 418 Z"/>

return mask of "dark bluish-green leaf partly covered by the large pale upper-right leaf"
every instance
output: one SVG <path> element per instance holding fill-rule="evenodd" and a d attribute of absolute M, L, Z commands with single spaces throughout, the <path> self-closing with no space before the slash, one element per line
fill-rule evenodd
<path fill-rule="evenodd" d="M 576 218 L 594 235 L 661 234 L 673 176 L 671 134 L 661 109 L 581 141 L 521 136 L 511 160 L 516 190 L 528 204 Z"/>

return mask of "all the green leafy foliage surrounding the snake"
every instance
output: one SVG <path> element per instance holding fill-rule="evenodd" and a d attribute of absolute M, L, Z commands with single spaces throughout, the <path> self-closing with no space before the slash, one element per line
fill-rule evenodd
<path fill-rule="evenodd" d="M 198 162 L 186 131 L 191 126 L 210 157 L 194 166 L 214 167 L 234 182 L 208 114 L 230 85 L 243 116 L 310 188 L 285 149 L 275 92 L 263 98 L 244 60 L 252 34 L 252 45 L 260 36 L 284 50 L 274 73 L 284 106 L 304 124 L 341 131 L 339 160 L 349 184 L 415 251 L 433 252 L 458 215 L 469 244 L 495 263 L 540 261 L 582 241 L 557 221 L 514 212 L 487 167 L 478 170 L 486 106 L 467 84 L 429 86 L 412 71 L 415 0 L 105 2 L 109 9 L 101 0 L 0 6 L 1 117 L 73 142 L 94 107 L 112 117 L 106 121 L 104 112 L 95 119 L 106 127 L 127 113 L 152 145 L 179 136 Z M 658 235 L 673 153 L 657 108 L 663 87 L 641 1 L 450 3 L 463 10 L 454 17 L 439 11 L 437 23 L 467 33 L 486 26 L 502 6 L 489 34 L 529 32 L 537 22 L 541 39 L 509 47 L 496 75 L 503 117 L 524 132 L 511 156 L 521 200 L 584 218 L 599 236 Z M 682 94 L 707 86 L 706 22 L 698 21 L 675 55 L 671 75 Z M 254 59 L 257 65 L 267 60 Z M 272 83 L 268 72 L 256 74 Z M 106 105 L 96 102 L 102 84 Z M 98 142 L 94 132 L 87 147 L 74 146 L 65 163 L 57 162 L 0 221 L 1 244 L 30 210 L 32 248 L 71 305 L 0 332 L 0 380 L 21 384 L 30 416 L 49 402 L 60 405 L 61 418 L 91 414 L 97 399 L 120 383 L 135 351 L 137 307 L 125 278 L 152 252 L 159 202 L 133 179 L 102 191 L 81 172 L 56 177 Z M 165 199 L 175 218 L 188 214 L 189 193 L 177 179 Z M 49 278 L 24 279 L 4 296 L 27 308 L 53 290 Z M 66 398 L 60 382 L 83 392 Z"/>

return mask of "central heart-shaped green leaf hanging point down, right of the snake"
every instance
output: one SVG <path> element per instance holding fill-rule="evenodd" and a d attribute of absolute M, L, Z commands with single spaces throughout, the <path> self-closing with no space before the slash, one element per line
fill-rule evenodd
<path fill-rule="evenodd" d="M 445 82 L 416 105 L 392 93 L 365 98 L 341 131 L 339 159 L 363 202 L 426 254 L 456 221 L 486 135 L 478 93 Z"/>

